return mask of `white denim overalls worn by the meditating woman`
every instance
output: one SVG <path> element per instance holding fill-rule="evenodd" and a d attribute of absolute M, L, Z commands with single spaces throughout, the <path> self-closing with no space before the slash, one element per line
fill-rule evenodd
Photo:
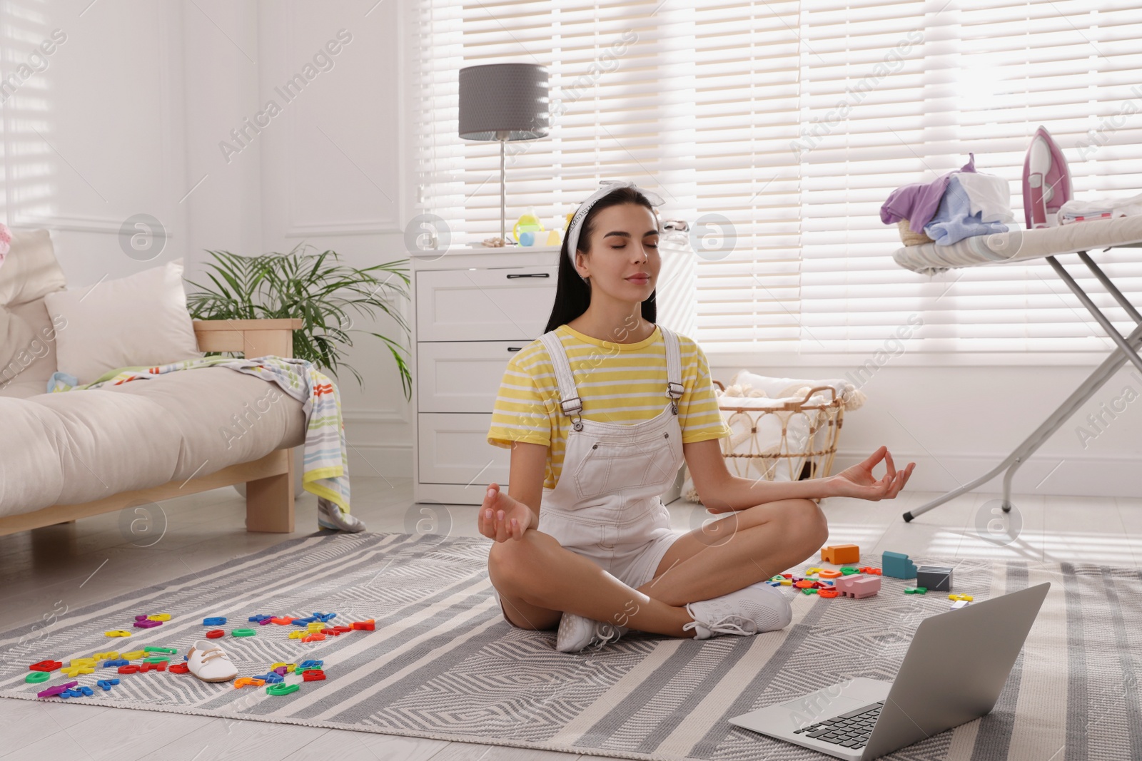
<path fill-rule="evenodd" d="M 683 384 L 678 337 L 658 329 L 666 341 L 666 404 L 651 420 L 633 424 L 584 420 L 563 342 L 554 331 L 540 337 L 572 426 L 555 488 L 544 488 L 539 531 L 633 588 L 654 577 L 667 549 L 686 533 L 670 527 L 661 499 L 684 461 L 678 423 Z"/>

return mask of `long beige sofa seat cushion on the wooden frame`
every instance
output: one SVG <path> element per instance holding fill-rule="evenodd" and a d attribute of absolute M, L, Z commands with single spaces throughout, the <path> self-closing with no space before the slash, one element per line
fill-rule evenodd
<path fill-rule="evenodd" d="M 301 403 L 202 367 L 82 391 L 0 397 L 0 517 L 201 478 L 305 443 Z"/>

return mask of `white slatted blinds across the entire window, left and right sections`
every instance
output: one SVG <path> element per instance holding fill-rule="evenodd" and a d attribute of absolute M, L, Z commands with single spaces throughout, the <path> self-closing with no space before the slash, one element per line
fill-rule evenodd
<path fill-rule="evenodd" d="M 972 152 L 1010 181 L 1022 225 L 1039 124 L 1077 197 L 1142 192 L 1142 9 L 1126 0 L 418 0 L 412 23 L 419 202 L 455 243 L 499 228 L 498 144 L 457 137 L 457 72 L 539 63 L 553 127 L 508 146 L 508 225 L 534 207 L 550 226 L 598 179 L 657 189 L 664 216 L 700 237 L 694 338 L 708 353 L 867 355 L 917 322 L 910 353 L 1002 363 L 1112 347 L 1042 259 L 934 277 L 898 267 L 879 207 Z M 1139 250 L 1092 256 L 1142 306 Z"/>

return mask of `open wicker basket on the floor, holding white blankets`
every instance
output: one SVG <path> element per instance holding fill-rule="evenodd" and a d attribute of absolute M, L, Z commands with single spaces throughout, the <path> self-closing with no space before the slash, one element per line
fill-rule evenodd
<path fill-rule="evenodd" d="M 716 380 L 714 382 L 725 391 L 725 386 Z M 826 400 L 818 398 L 810 403 L 818 395 Z M 738 442 L 732 437 L 721 439 L 722 455 L 730 472 L 766 480 L 801 480 L 830 475 L 845 416 L 844 402 L 835 388 L 819 386 L 801 399 L 787 399 L 780 405 L 763 408 L 738 406 L 735 399 L 742 397 L 718 397 L 722 418 L 734 431 L 746 431 L 750 436 L 745 442 L 740 440 L 740 436 Z M 765 445 L 758 440 L 759 431 L 767 432 Z"/>

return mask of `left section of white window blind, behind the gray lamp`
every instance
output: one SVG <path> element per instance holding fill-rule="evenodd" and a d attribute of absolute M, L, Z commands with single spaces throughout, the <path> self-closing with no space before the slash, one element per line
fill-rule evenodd
<path fill-rule="evenodd" d="M 650 2 L 420 0 L 413 100 L 421 210 L 445 220 L 453 243 L 499 233 L 499 144 L 457 136 L 458 71 L 478 64 L 540 64 L 550 75 L 549 135 L 507 145 L 508 232 L 534 208 L 547 229 L 601 179 L 629 178 L 666 199 L 667 218 L 689 212 L 673 178 L 693 98 L 673 70 L 690 66 L 685 16 Z M 682 37 L 676 37 L 681 34 Z M 692 205 L 692 204 L 691 204 Z M 683 218 L 685 218 L 683 217 Z M 562 226 L 562 225 L 561 225 Z"/>

